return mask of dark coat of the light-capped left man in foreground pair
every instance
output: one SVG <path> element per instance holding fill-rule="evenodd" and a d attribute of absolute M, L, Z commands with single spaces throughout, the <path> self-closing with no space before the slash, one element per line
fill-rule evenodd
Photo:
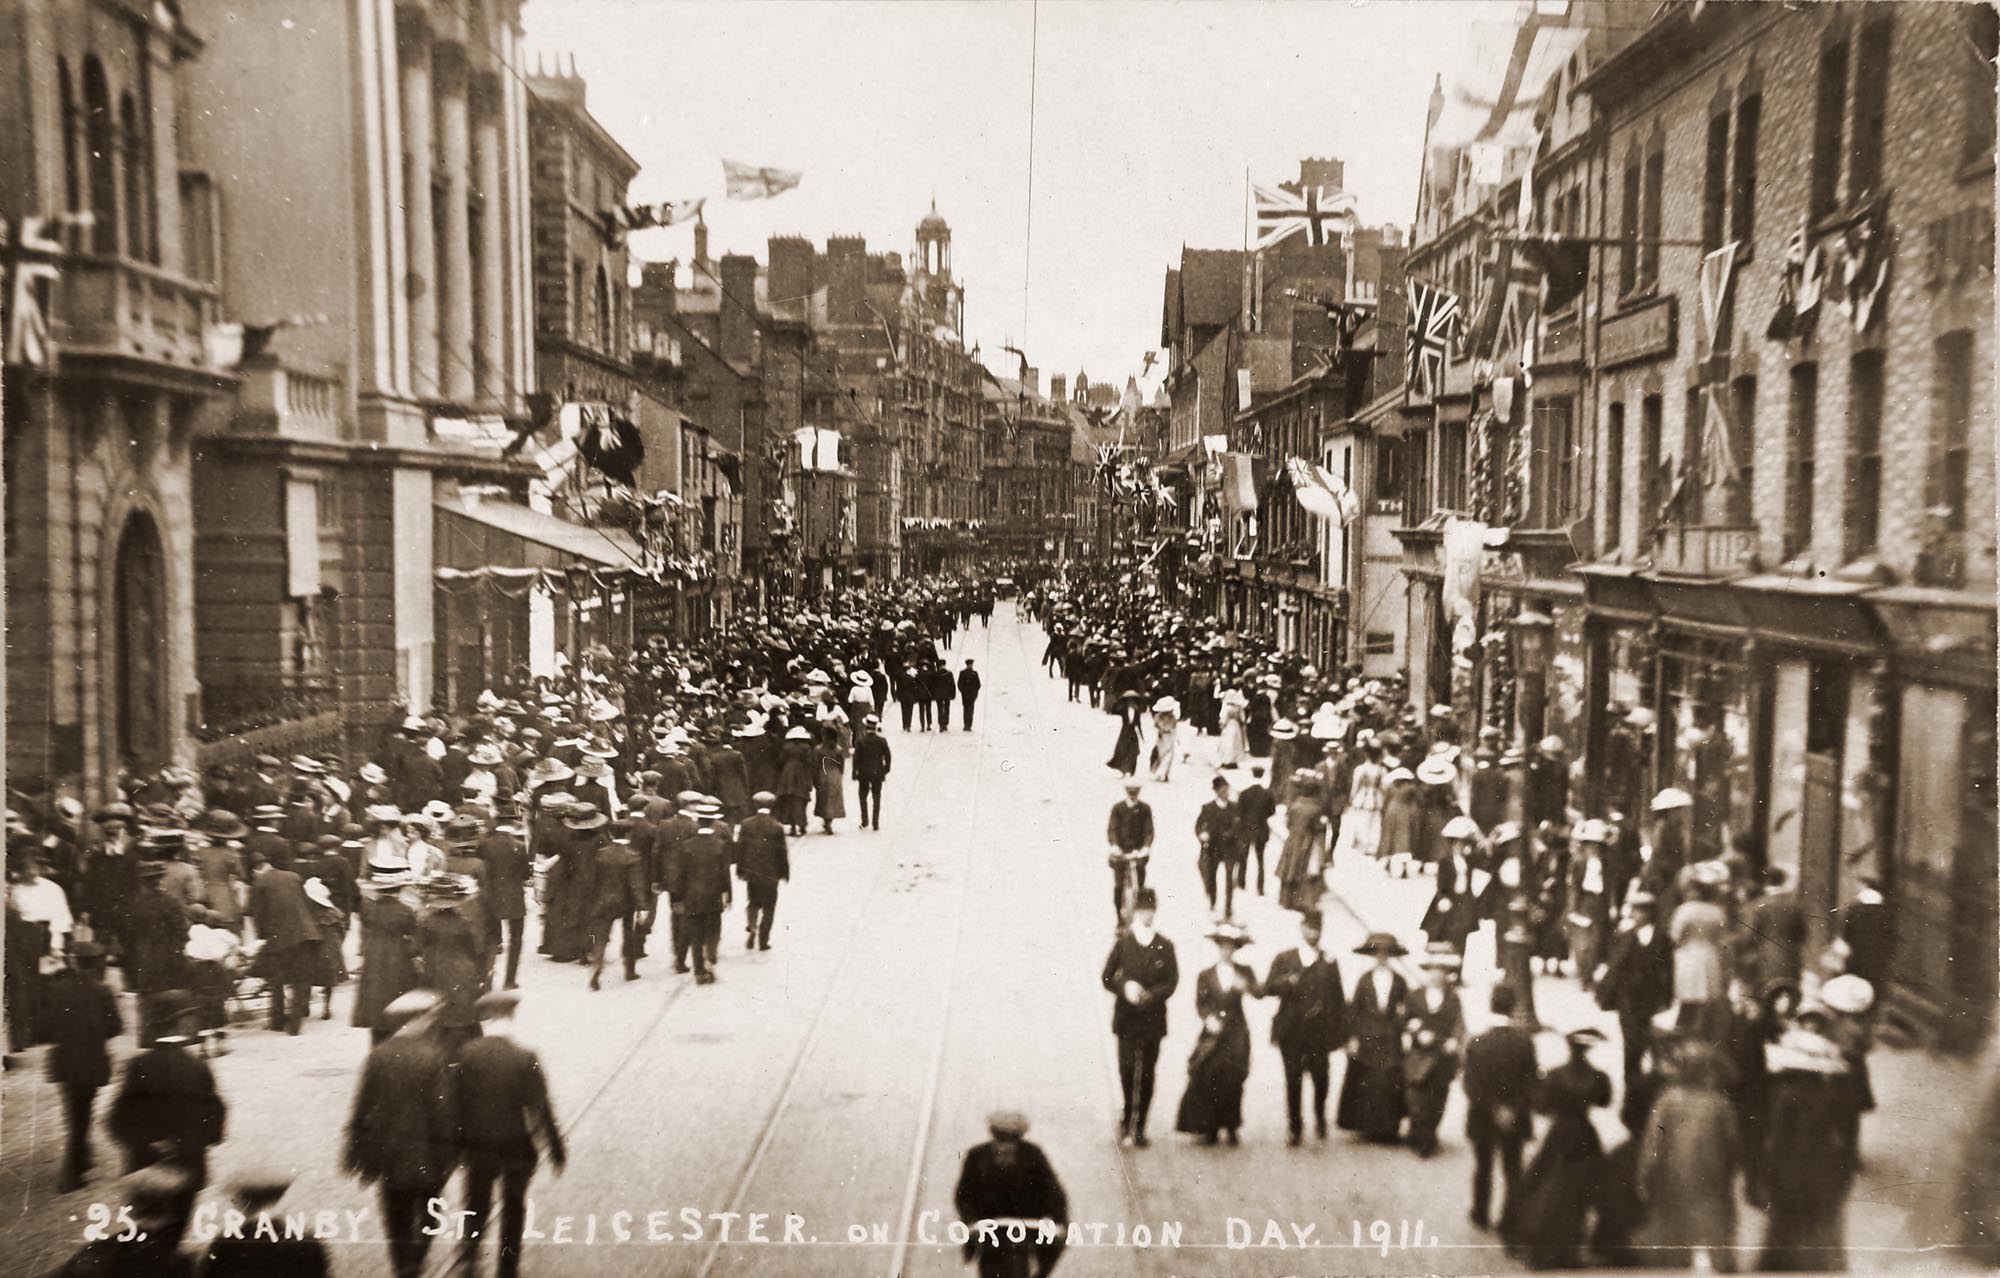
<path fill-rule="evenodd" d="M 428 1034 L 396 1034 L 368 1052 L 348 1116 L 346 1168 L 368 1182 L 436 1190 L 458 1166 L 450 1060 Z"/>

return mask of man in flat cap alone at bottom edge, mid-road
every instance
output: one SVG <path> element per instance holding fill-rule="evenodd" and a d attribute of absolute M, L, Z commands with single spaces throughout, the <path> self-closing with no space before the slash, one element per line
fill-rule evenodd
<path fill-rule="evenodd" d="M 1028 1118 L 998 1110 L 986 1118 L 992 1140 L 966 1150 L 952 1202 L 972 1226 L 964 1244 L 980 1278 L 1046 1276 L 1062 1256 L 1070 1200 L 1042 1146 L 1026 1140 Z M 984 1228 L 982 1228 L 984 1222 Z M 1048 1230 L 1038 1228 L 1048 1222 Z"/>

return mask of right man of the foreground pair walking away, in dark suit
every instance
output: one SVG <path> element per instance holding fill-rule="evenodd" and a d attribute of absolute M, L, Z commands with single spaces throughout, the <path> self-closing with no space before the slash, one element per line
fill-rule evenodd
<path fill-rule="evenodd" d="M 478 1012 L 484 1034 L 458 1054 L 458 1138 L 466 1160 L 466 1232 L 458 1264 L 476 1274 L 480 1238 L 492 1222 L 492 1188 L 500 1182 L 500 1278 L 520 1272 L 520 1234 L 528 1182 L 540 1148 L 560 1174 L 568 1164 L 548 1078 L 534 1052 L 514 1042 L 518 994 L 488 994 Z"/>

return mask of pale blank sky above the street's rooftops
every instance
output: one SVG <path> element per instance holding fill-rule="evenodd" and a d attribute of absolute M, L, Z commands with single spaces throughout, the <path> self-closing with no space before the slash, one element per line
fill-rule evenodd
<path fill-rule="evenodd" d="M 1362 220 L 1408 228 L 1432 76 L 1450 78 L 1474 24 L 1514 10 L 526 0 L 522 24 L 528 66 L 574 58 L 590 114 L 640 162 L 634 202 L 708 196 L 712 256 L 764 260 L 776 234 L 858 234 L 908 254 L 936 200 L 968 344 L 1002 370 L 1000 346 L 1022 346 L 1046 390 L 1056 372 L 1122 384 L 1140 370 L 1180 248 L 1242 246 L 1246 172 L 1274 186 L 1300 158 L 1336 156 Z M 724 156 L 804 182 L 724 202 Z M 634 238 L 646 260 L 692 248 L 692 226 Z"/>

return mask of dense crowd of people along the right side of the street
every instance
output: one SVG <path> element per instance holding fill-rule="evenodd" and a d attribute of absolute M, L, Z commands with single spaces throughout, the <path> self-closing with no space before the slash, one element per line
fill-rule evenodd
<path fill-rule="evenodd" d="M 1874 1108 L 1868 1054 L 1890 946 L 1872 884 L 1808 966 L 1790 876 L 1754 864 L 1748 848 L 1700 858 L 1716 840 L 1698 838 L 1678 788 L 1652 794 L 1638 820 L 1586 814 L 1560 738 L 1462 732 L 1448 706 L 1418 710 L 1398 680 L 1316 670 L 1114 576 L 1050 582 L 1026 604 L 1048 630 L 1044 666 L 1070 700 L 1116 722 L 1108 766 L 1126 778 L 1126 798 L 1106 842 L 1120 932 L 1102 980 L 1114 996 L 1124 1144 L 1148 1144 L 1180 982 L 1146 886 L 1158 830 L 1142 788 L 1206 756 L 1212 796 L 1192 860 L 1218 960 L 1194 980 L 1200 1032 L 1176 1130 L 1238 1144 L 1252 1058 L 1244 1004 L 1268 996 L 1288 1142 L 1304 1138 L 1308 1084 L 1326 1138 L 1336 1052 L 1346 1054 L 1336 1126 L 1418 1156 L 1440 1148 L 1460 1086 L 1470 1218 L 1530 1266 L 1740 1264 L 1748 1204 L 1764 1212 L 1758 1266 L 1838 1268 L 1860 1120 Z M 1298 940 L 1258 976 L 1238 962 L 1250 936 L 1234 906 L 1264 892 L 1272 844 L 1274 892 L 1296 912 Z M 1350 858 L 1432 882 L 1422 950 L 1370 934 L 1356 950 L 1366 968 L 1346 984 L 1322 952 L 1322 908 L 1332 866 Z M 1608 1014 L 1590 1020 L 1618 1024 L 1626 1140 L 1614 1148 L 1590 1118 L 1614 1098 L 1590 1060 L 1608 1034 L 1580 1022 L 1564 1064 L 1542 1070 L 1536 1056 L 1522 986 L 1556 972 Z M 1462 998 L 1484 1002 L 1488 1028 L 1468 1030 Z"/>

